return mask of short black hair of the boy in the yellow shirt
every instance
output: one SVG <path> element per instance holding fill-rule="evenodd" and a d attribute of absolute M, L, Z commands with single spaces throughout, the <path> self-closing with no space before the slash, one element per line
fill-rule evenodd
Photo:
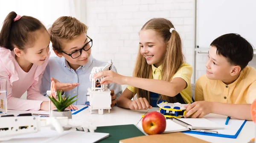
<path fill-rule="evenodd" d="M 241 70 L 253 59 L 253 46 L 239 34 L 224 34 L 212 41 L 217 54 L 227 58 L 232 65 L 239 65 Z"/>

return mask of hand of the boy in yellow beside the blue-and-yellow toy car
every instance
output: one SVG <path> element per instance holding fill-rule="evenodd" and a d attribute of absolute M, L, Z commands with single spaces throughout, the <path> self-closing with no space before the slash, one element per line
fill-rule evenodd
<path fill-rule="evenodd" d="M 190 115 L 191 118 L 203 118 L 205 115 L 212 112 L 211 103 L 212 102 L 208 101 L 197 101 L 192 104 L 184 106 L 187 112 L 185 118 L 188 118 Z"/>

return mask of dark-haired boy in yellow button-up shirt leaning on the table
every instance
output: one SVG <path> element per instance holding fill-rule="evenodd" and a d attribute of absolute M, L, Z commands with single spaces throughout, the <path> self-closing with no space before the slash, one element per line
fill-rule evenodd
<path fill-rule="evenodd" d="M 185 117 L 202 118 L 209 113 L 251 120 L 250 105 L 256 98 L 256 70 L 252 45 L 239 34 L 224 34 L 208 51 L 206 75 L 195 85 L 195 101 Z"/>

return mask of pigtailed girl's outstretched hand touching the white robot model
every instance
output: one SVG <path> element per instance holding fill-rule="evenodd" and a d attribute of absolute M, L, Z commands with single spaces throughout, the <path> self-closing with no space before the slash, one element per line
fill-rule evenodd
<path fill-rule="evenodd" d="M 109 84 L 109 83 L 116 83 L 116 84 L 124 84 L 124 79 L 122 75 L 119 75 L 118 73 L 113 72 L 112 70 L 108 71 L 102 71 L 99 73 L 96 73 L 93 76 L 93 79 L 99 79 L 101 77 L 104 77 L 100 83 L 102 84 Z"/>

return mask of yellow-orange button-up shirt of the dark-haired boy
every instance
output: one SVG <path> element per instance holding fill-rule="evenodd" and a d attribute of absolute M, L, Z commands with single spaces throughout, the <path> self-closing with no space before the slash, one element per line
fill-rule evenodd
<path fill-rule="evenodd" d="M 256 98 L 256 70 L 245 67 L 232 84 L 201 76 L 195 84 L 195 101 L 251 104 Z"/>

